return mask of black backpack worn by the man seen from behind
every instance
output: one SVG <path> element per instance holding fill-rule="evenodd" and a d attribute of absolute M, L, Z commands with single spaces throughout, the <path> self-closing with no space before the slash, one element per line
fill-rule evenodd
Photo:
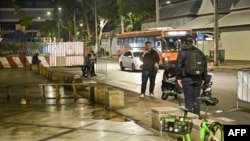
<path fill-rule="evenodd" d="M 186 61 L 185 61 L 185 73 L 187 75 L 201 75 L 205 73 L 205 57 L 203 53 L 193 47 L 185 53 Z"/>

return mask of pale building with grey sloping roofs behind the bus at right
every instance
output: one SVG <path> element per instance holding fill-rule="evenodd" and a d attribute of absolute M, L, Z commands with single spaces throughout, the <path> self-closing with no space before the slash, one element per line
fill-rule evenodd
<path fill-rule="evenodd" d="M 219 50 L 225 60 L 249 61 L 250 1 L 218 0 Z M 160 8 L 159 26 L 191 28 L 193 33 L 207 33 L 214 30 L 214 0 L 188 0 L 165 4 Z M 141 28 L 155 27 L 156 20 L 142 23 Z M 211 34 L 210 34 L 211 35 Z M 195 37 L 197 37 L 195 35 Z M 214 50 L 213 40 L 196 44 L 206 55 Z M 237 55 L 236 55 L 237 54 Z M 240 54 L 240 55 L 239 55 Z"/>

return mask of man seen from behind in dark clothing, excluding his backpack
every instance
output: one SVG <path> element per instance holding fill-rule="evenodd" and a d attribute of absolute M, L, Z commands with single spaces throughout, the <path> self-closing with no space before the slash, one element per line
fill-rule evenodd
<path fill-rule="evenodd" d="M 185 45 L 183 46 L 177 57 L 176 78 L 180 87 L 183 88 L 185 108 L 189 109 L 190 111 L 193 111 L 193 113 L 197 115 L 200 115 L 200 101 L 197 100 L 197 98 L 200 96 L 201 86 L 203 85 L 205 80 L 205 75 L 207 73 L 207 63 L 204 64 L 205 72 L 200 75 L 191 76 L 185 73 L 185 61 L 187 58 L 186 54 L 189 50 L 194 48 L 195 47 L 193 46 L 193 39 L 186 39 Z M 204 53 L 201 53 L 203 56 L 202 58 L 206 62 L 206 57 Z"/>

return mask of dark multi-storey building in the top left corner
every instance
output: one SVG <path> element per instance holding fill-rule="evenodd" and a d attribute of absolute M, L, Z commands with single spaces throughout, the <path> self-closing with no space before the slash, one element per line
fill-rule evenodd
<path fill-rule="evenodd" d="M 47 19 L 52 19 L 52 0 L 12 0 L 0 1 L 0 35 L 21 30 L 27 35 L 37 36 L 39 26 Z M 19 24 L 24 17 L 31 17 L 32 24 L 27 28 Z"/>

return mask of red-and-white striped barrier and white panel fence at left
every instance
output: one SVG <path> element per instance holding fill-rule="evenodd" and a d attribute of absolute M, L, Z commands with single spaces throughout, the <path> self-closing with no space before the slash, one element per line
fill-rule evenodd
<path fill-rule="evenodd" d="M 38 53 L 38 58 L 44 67 L 50 66 L 80 66 L 84 64 L 86 46 L 83 42 L 50 43 L 42 47 L 3 47 L 0 49 L 0 69 L 30 68 L 32 56 Z M 25 54 L 25 55 L 24 55 Z"/>

